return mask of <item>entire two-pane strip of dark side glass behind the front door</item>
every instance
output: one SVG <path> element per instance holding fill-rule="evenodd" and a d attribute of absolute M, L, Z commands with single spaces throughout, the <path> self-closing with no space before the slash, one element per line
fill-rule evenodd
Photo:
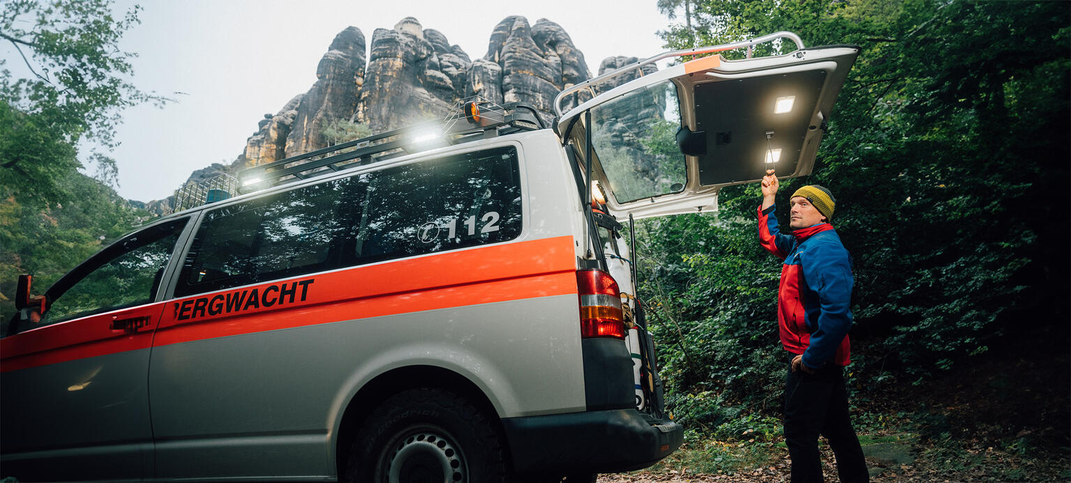
<path fill-rule="evenodd" d="M 498 243 L 521 229 L 516 148 L 433 159 L 207 212 L 176 297 Z"/>

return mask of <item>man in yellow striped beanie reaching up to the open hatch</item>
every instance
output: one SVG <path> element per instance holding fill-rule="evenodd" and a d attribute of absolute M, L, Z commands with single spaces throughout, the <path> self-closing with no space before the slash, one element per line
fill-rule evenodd
<path fill-rule="evenodd" d="M 773 216 L 778 187 L 773 170 L 767 170 L 758 238 L 764 248 L 784 260 L 778 324 L 781 344 L 793 354 L 785 379 L 784 422 L 793 482 L 823 481 L 819 434 L 836 455 L 841 481 L 866 482 L 866 462 L 851 427 L 844 387 L 853 278 L 848 252 L 828 223 L 836 200 L 818 185 L 799 188 L 789 199 L 793 235 L 783 235 Z"/>

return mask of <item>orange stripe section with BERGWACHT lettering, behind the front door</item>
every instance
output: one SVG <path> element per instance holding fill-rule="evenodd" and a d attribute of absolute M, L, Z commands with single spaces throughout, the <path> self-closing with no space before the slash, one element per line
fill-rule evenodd
<path fill-rule="evenodd" d="M 504 243 L 176 299 L 153 345 L 576 293 L 573 245 L 572 237 Z"/>

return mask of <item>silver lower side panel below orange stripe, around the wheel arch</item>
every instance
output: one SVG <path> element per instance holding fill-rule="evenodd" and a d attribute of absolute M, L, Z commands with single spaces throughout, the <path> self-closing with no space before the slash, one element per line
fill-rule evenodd
<path fill-rule="evenodd" d="M 205 478 L 217 474 L 218 467 L 236 476 L 331 474 L 330 435 L 345 409 L 340 401 L 348 402 L 379 374 L 409 365 L 434 365 L 468 378 L 502 417 L 584 410 L 578 315 L 567 308 L 575 297 L 157 347 L 150 371 L 153 431 L 163 441 L 156 447 L 157 477 Z M 517 317 L 503 319 L 503 313 Z M 531 371 L 533 366 L 541 369 Z M 291 464 L 285 468 L 273 453 L 257 450 L 291 440 L 308 447 L 288 454 Z M 205 465 L 188 465 L 190 457 Z"/>

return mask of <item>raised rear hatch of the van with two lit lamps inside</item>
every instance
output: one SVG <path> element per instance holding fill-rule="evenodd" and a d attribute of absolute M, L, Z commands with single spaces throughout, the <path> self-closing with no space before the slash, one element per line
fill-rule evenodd
<path fill-rule="evenodd" d="M 718 47 L 657 56 L 567 89 L 577 90 L 666 57 L 790 40 L 782 56 L 726 60 L 713 55 L 648 73 L 561 115 L 558 132 L 585 156 L 591 115 L 592 179 L 618 220 L 712 211 L 722 186 L 755 182 L 773 168 L 804 176 L 859 47 L 803 48 L 780 32 Z M 559 112 L 560 114 L 560 112 Z"/>

